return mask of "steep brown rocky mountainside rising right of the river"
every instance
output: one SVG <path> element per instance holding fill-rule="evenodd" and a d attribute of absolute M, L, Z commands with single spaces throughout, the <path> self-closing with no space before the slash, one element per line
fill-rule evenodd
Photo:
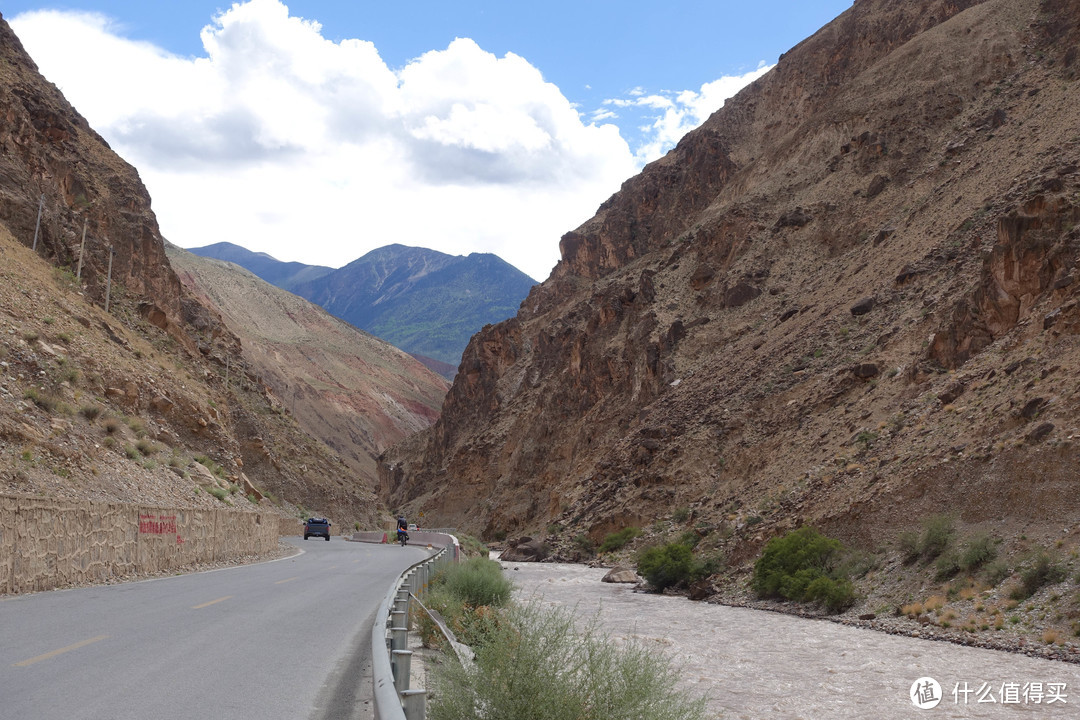
<path fill-rule="evenodd" d="M 1028 473 L 1064 483 L 1078 13 L 856 2 L 563 237 L 381 495 L 488 536 L 685 508 L 740 528 L 738 558 L 969 494 L 966 521 L 1003 522 Z M 1020 525 L 1077 519 L 1054 487 Z"/>

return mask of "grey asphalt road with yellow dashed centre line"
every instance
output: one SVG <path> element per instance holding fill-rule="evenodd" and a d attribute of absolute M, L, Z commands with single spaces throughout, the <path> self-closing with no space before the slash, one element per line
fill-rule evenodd
<path fill-rule="evenodd" d="M 0 718 L 370 718 L 370 627 L 420 547 L 334 538 L 259 565 L 0 601 Z"/>

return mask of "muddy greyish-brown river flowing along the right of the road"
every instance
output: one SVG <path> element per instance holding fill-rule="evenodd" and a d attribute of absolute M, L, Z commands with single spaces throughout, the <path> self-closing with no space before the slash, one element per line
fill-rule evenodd
<path fill-rule="evenodd" d="M 584 566 L 502 565 L 519 600 L 598 613 L 616 641 L 667 655 L 710 718 L 1080 718 L 1080 665 L 635 593 Z M 913 702 L 922 678 L 940 687 L 936 707 Z"/>

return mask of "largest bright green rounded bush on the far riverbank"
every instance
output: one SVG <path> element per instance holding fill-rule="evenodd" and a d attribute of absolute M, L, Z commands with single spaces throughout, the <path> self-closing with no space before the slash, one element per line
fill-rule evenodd
<path fill-rule="evenodd" d="M 832 611 L 843 610 L 854 602 L 855 593 L 836 567 L 842 553 L 840 541 L 813 528 L 773 538 L 754 565 L 754 590 L 760 597 L 820 602 Z"/>

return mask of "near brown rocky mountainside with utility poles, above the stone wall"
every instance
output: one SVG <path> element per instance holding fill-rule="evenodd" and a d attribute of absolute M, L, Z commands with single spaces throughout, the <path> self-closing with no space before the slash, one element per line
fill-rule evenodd
<path fill-rule="evenodd" d="M 301 426 L 281 376 L 185 288 L 135 168 L 2 18 L 0 148 L 0 491 L 377 521 L 370 478 Z M 400 409 L 394 432 L 431 412 Z"/>

